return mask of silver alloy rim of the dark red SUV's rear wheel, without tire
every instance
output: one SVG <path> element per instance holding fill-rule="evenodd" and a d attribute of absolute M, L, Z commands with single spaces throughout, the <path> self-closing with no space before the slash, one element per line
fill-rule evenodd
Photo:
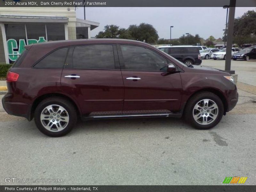
<path fill-rule="evenodd" d="M 40 121 L 48 131 L 60 132 L 67 127 L 69 115 L 67 110 L 60 105 L 48 105 L 42 110 Z"/>

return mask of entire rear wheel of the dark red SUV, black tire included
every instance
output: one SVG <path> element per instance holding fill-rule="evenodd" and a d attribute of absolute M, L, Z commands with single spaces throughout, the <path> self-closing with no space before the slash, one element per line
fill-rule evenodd
<path fill-rule="evenodd" d="M 76 108 L 62 97 L 50 97 L 41 101 L 34 117 L 39 131 L 50 137 L 66 135 L 77 121 Z"/>

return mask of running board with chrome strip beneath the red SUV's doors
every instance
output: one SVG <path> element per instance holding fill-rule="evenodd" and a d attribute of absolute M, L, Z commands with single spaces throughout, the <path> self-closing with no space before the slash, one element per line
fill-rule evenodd
<path fill-rule="evenodd" d="M 83 116 L 83 120 L 90 119 L 126 119 L 126 118 L 153 118 L 153 117 L 177 117 L 180 118 L 180 113 L 154 113 L 154 114 L 125 114 L 125 115 L 97 115 L 97 116 Z"/>

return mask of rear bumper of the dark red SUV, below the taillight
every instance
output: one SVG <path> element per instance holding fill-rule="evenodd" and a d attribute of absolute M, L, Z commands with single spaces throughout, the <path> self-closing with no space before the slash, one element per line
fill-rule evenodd
<path fill-rule="evenodd" d="M 27 103 L 22 103 L 22 102 L 10 101 L 9 98 L 11 97 L 12 97 L 12 93 L 6 93 L 6 95 L 2 98 L 2 104 L 3 104 L 4 110 L 9 115 L 21 116 L 30 120 L 31 105 Z"/>

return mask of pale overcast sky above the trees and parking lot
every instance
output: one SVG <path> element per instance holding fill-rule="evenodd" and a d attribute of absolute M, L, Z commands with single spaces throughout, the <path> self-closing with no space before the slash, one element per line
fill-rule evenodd
<path fill-rule="evenodd" d="M 242 16 L 255 7 L 236 7 L 236 17 Z M 84 8 L 79 7 L 77 17 L 84 19 Z M 209 36 L 223 36 L 222 29 L 226 24 L 226 9 L 222 7 L 86 7 L 86 20 L 97 21 L 100 26 L 91 31 L 95 36 L 106 25 L 117 25 L 128 28 L 129 25 L 148 23 L 153 25 L 159 38 L 179 38 L 185 33 L 195 36 L 199 34 L 204 39 Z"/>

